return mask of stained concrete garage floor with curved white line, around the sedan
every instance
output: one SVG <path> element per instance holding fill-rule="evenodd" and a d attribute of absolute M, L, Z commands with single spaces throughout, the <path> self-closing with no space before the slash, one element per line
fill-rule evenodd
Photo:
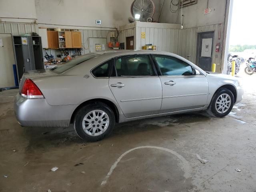
<path fill-rule="evenodd" d="M 17 90 L 0 92 L 0 192 L 255 192 L 256 75 L 239 76 L 246 94 L 225 118 L 117 124 L 94 143 L 72 127 L 22 128 L 12 107 Z"/>

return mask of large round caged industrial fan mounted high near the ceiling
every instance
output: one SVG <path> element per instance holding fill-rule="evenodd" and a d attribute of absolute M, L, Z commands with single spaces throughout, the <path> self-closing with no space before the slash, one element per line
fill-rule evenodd
<path fill-rule="evenodd" d="M 147 22 L 152 21 L 155 12 L 155 4 L 152 0 L 134 0 L 131 6 L 131 13 L 135 20 Z"/>

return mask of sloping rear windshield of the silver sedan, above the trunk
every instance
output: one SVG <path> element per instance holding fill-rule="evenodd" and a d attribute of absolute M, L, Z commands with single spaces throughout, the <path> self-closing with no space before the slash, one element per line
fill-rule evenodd
<path fill-rule="evenodd" d="M 97 54 L 85 54 L 83 56 L 80 56 L 80 57 L 77 57 L 77 58 L 72 59 L 70 61 L 67 61 L 67 62 L 65 62 L 65 63 L 63 63 L 61 65 L 58 65 L 58 66 L 56 66 L 54 68 L 51 68 L 50 70 L 52 72 L 54 72 L 54 73 L 61 74 L 61 73 L 65 72 L 65 71 L 73 68 L 74 66 L 76 66 L 76 65 L 78 65 L 78 64 L 80 64 L 82 62 L 85 62 L 85 61 L 87 61 L 87 60 L 89 60 L 91 58 L 94 58 L 96 56 L 98 56 L 98 55 Z"/>

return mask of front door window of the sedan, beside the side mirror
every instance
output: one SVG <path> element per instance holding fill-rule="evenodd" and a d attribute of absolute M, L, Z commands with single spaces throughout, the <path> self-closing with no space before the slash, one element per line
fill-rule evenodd
<path fill-rule="evenodd" d="M 153 55 L 163 76 L 193 75 L 192 67 L 186 62 L 165 55 Z"/>

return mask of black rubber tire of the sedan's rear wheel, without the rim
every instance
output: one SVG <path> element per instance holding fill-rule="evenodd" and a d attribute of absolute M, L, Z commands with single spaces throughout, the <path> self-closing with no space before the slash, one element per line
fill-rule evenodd
<path fill-rule="evenodd" d="M 93 110 L 101 110 L 108 115 L 108 121 L 109 121 L 108 128 L 98 136 L 90 136 L 82 128 L 82 122 L 84 117 L 86 116 L 86 114 L 88 114 Z M 76 112 L 76 116 L 74 120 L 74 130 L 76 131 L 76 134 L 78 134 L 78 136 L 82 140 L 90 141 L 90 142 L 102 140 L 104 137 L 108 136 L 112 132 L 114 125 L 115 125 L 114 112 L 111 110 L 111 108 L 108 105 L 102 102 L 95 102 L 95 103 L 91 103 L 86 106 L 83 106 L 78 110 L 78 112 Z"/>

